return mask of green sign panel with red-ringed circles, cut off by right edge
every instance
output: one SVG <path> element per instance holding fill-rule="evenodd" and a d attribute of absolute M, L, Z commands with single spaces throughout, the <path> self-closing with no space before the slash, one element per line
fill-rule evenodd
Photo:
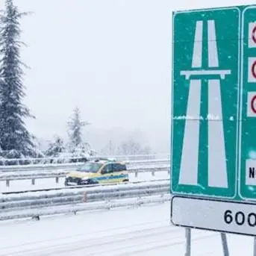
<path fill-rule="evenodd" d="M 243 10 L 240 197 L 256 200 L 256 6 Z"/>

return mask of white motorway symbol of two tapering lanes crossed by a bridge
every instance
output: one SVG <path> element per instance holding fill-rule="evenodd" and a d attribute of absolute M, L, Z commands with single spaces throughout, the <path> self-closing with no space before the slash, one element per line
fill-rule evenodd
<path fill-rule="evenodd" d="M 209 122 L 208 124 L 208 186 L 227 188 L 228 174 L 222 122 L 220 79 L 225 79 L 225 75 L 230 75 L 231 70 L 219 69 L 214 20 L 207 20 L 207 60 L 210 69 L 202 69 L 203 24 L 203 21 L 196 22 L 192 70 L 181 70 L 180 72 L 186 79 L 190 79 L 186 116 L 193 116 L 195 119 L 193 121 L 186 120 L 185 122 L 179 184 L 198 185 L 202 80 L 199 78 L 192 78 L 192 76 L 201 75 L 202 78 L 205 78 L 207 75 L 219 75 L 220 78 L 210 78 L 208 80 L 208 113 L 211 116 L 219 116 L 218 122 Z M 197 69 L 195 70 L 194 68 Z M 191 138 L 193 138 L 193 140 L 191 140 Z"/>

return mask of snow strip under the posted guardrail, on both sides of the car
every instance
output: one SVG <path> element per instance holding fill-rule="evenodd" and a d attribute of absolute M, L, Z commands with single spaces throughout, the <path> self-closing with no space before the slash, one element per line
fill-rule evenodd
<path fill-rule="evenodd" d="M 130 181 L 149 181 L 154 179 L 169 178 L 167 172 L 155 172 L 154 176 L 152 176 L 151 172 L 138 173 L 137 178 L 134 174 L 129 176 Z M 6 186 L 5 181 L 0 181 L 0 193 L 19 190 L 37 190 L 51 187 L 64 187 L 64 178 L 60 178 L 58 184 L 56 184 L 54 178 L 38 179 L 34 185 L 31 184 L 31 180 L 10 181 L 10 187 Z"/>

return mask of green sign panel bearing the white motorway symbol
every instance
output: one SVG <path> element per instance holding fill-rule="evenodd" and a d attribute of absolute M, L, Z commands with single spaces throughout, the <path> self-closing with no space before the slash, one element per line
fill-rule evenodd
<path fill-rule="evenodd" d="M 175 13 L 173 22 L 172 192 L 233 198 L 240 11 Z"/>

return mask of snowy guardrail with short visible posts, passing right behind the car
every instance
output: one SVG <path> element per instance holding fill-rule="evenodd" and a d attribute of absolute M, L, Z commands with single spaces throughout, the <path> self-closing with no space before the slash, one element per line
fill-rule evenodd
<path fill-rule="evenodd" d="M 141 172 L 151 172 L 154 176 L 155 172 L 168 172 L 169 165 L 166 166 L 143 166 L 143 167 L 132 167 L 128 169 L 129 173 L 134 173 L 137 178 L 138 173 Z M 59 183 L 60 178 L 66 177 L 68 171 L 60 172 L 13 172 L 13 173 L 0 173 L 0 181 L 6 181 L 6 186 L 10 187 L 10 181 L 21 181 L 21 180 L 31 180 L 31 184 L 34 185 L 35 181 L 38 179 L 49 179 L 55 178 L 55 182 Z"/>

